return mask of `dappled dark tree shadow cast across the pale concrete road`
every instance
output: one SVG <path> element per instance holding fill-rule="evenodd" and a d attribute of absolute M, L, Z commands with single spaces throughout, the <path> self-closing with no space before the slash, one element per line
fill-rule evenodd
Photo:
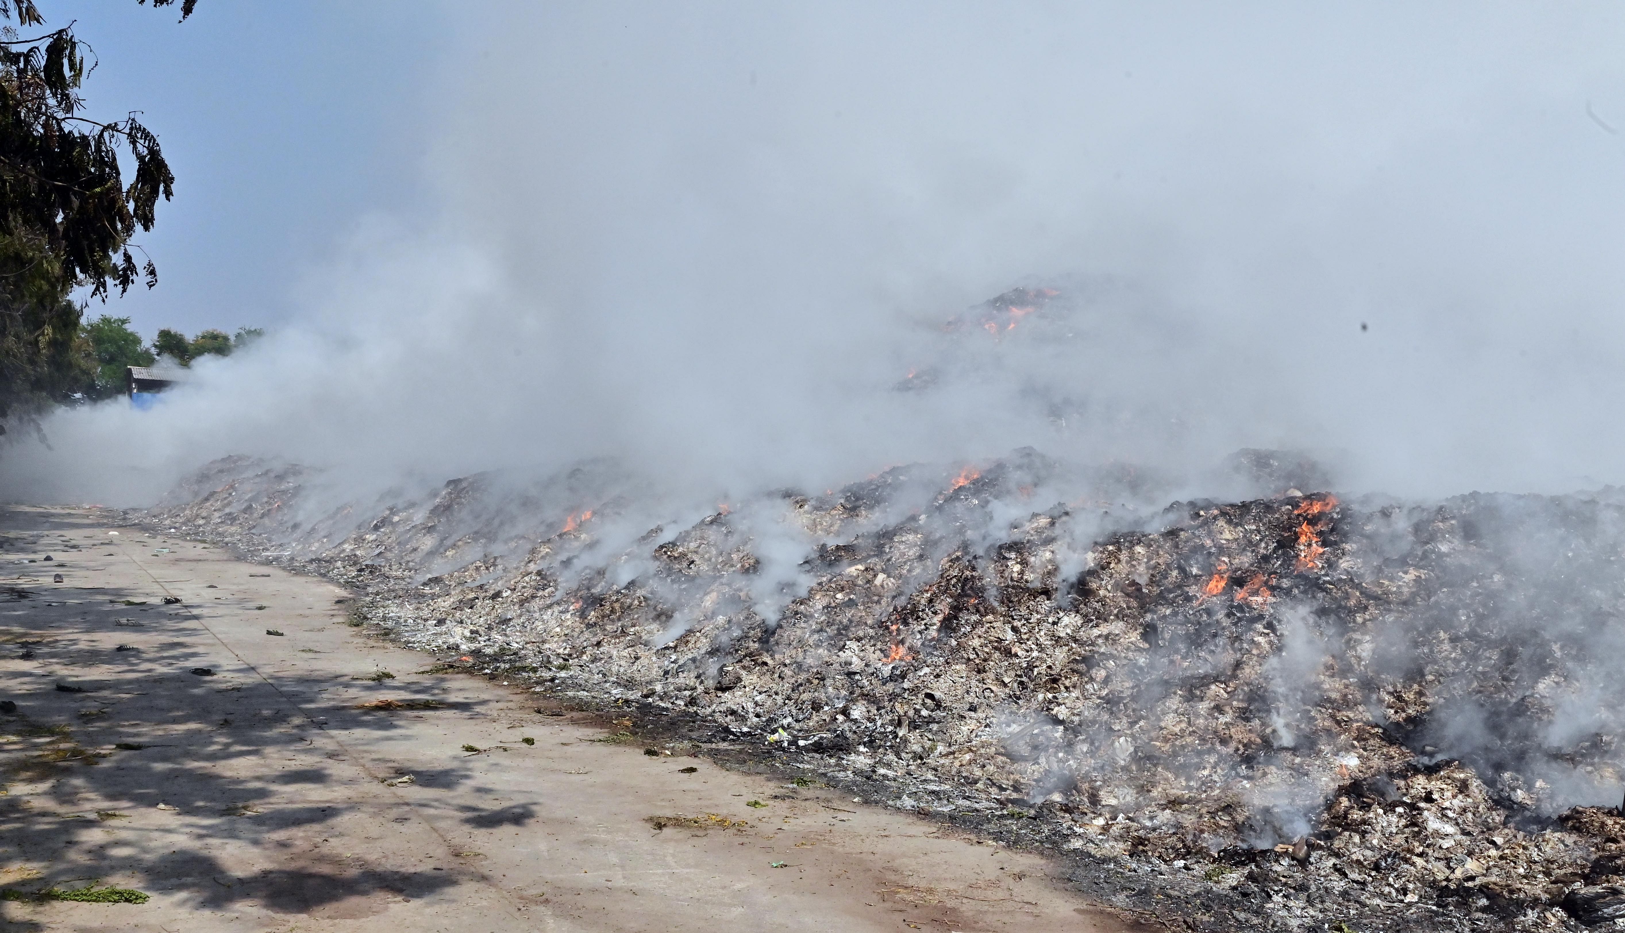
<path fill-rule="evenodd" d="M 6 543 L 15 553 L 18 535 Z M 10 587 L 0 592 L 0 699 L 16 704 L 0 709 L 0 870 L 21 863 L 41 874 L 13 873 L 0 887 L 110 879 L 203 909 L 252 900 L 336 920 L 460 881 L 455 870 L 379 871 L 318 852 L 325 827 L 364 809 L 343 793 L 356 764 L 323 728 L 387 733 L 400 728 L 396 714 L 323 697 L 340 686 L 332 673 L 245 665 L 200 632 L 195 613 L 226 606 L 166 606 L 156 585 L 54 585 L 36 567 L 0 580 Z M 481 705 L 452 704 L 445 681 L 348 679 L 346 692 L 437 701 L 447 714 Z M 455 766 L 422 774 L 447 788 L 470 780 Z M 426 798 L 411 806 L 436 808 Z M 481 819 L 463 808 L 445 818 Z M 476 826 L 520 826 L 530 811 L 510 806 L 488 819 Z M 234 878 L 213 850 L 242 842 L 266 858 Z M 8 930 L 47 928 L 24 913 L 0 902 Z"/>

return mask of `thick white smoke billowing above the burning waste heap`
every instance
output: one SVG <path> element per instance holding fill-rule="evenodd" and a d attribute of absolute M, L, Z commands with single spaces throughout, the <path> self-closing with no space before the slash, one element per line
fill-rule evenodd
<path fill-rule="evenodd" d="M 401 156 L 437 213 L 358 219 L 158 410 L 49 419 L 6 496 L 616 457 L 705 504 L 1029 444 L 1188 476 L 1310 449 L 1401 494 L 1622 478 L 1610 8 L 460 15 Z M 938 328 L 1016 284 L 1061 291 L 1043 336 Z M 947 377 L 895 392 L 921 364 Z"/>

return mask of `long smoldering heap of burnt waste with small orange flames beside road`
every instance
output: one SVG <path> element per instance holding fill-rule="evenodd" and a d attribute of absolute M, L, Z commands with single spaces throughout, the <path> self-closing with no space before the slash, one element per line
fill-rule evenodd
<path fill-rule="evenodd" d="M 1176 925 L 1625 918 L 1625 497 L 1136 515 L 1043 507 L 1055 468 L 769 496 L 817 543 L 791 558 L 746 506 L 639 528 L 606 471 L 318 510 L 315 476 L 232 458 L 143 520 L 356 587 L 410 645 L 1055 845 Z"/>

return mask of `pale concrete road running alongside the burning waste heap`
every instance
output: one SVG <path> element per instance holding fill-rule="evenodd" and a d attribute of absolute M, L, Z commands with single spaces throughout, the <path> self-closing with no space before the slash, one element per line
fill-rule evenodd
<path fill-rule="evenodd" d="M 91 510 L 0 538 L 0 887 L 151 894 L 5 930 L 1129 930 L 1037 857 L 429 673 L 332 584 Z"/>

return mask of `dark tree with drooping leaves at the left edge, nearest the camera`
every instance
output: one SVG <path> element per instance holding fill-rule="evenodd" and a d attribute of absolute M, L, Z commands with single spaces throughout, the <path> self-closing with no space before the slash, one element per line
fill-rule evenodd
<path fill-rule="evenodd" d="M 146 0 L 140 0 L 146 2 Z M 169 7 L 176 0 L 151 0 Z M 180 18 L 197 0 L 180 0 Z M 15 18 L 15 26 L 10 21 Z M 153 229 L 174 176 L 135 115 L 83 115 L 80 85 L 94 67 L 73 28 L 41 31 L 34 0 L 0 0 L 0 432 L 50 401 L 94 384 L 94 359 L 68 301 L 89 288 L 106 301 L 140 278 L 158 283 L 151 260 L 136 267 L 130 237 Z M 18 28 L 29 29 L 23 36 Z M 125 180 L 120 151 L 133 163 Z"/>

